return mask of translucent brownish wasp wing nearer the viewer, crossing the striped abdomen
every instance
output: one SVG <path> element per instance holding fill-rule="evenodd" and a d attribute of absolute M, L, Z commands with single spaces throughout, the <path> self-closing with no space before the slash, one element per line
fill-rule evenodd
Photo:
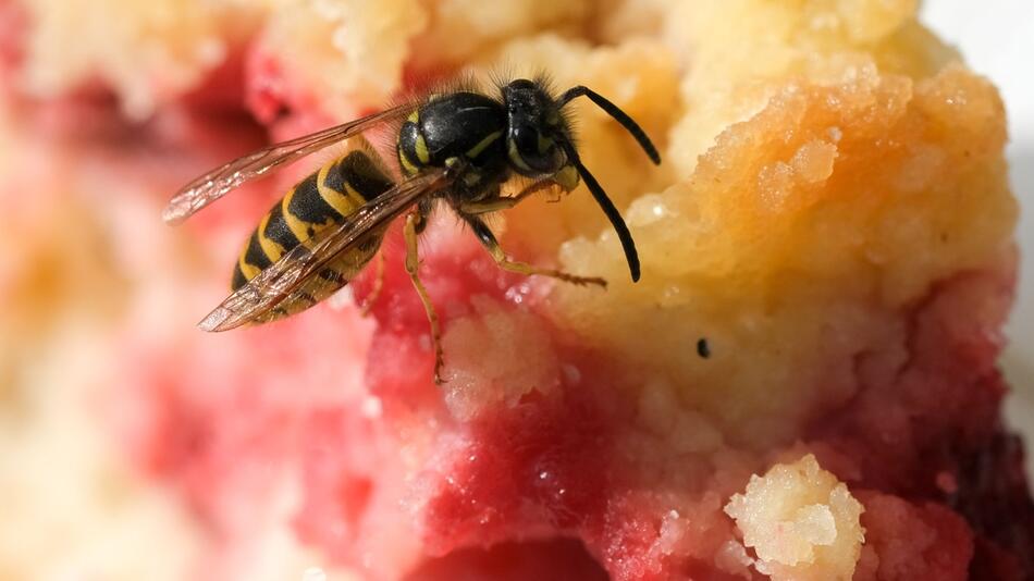
<path fill-rule="evenodd" d="M 386 226 L 420 198 L 447 186 L 444 170 L 429 171 L 384 191 L 341 224 L 319 232 L 292 248 L 248 284 L 226 297 L 198 326 L 205 331 L 227 331 L 249 322 L 260 322 L 278 305 L 298 298 L 304 285 L 341 252 L 365 235 Z"/>

